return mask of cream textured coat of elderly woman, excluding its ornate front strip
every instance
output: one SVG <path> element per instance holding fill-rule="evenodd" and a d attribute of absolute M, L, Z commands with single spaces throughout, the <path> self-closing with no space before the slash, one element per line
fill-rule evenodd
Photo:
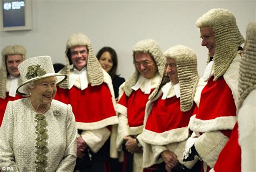
<path fill-rule="evenodd" d="M 13 167 L 16 171 L 35 171 L 36 126 L 29 98 L 9 101 L 0 128 L 0 168 Z M 77 129 L 70 105 L 52 100 L 44 113 L 48 134 L 46 171 L 73 171 L 76 163 Z"/>

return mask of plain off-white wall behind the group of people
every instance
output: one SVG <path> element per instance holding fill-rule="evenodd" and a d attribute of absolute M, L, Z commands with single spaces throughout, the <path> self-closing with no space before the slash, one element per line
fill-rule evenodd
<path fill-rule="evenodd" d="M 199 75 L 206 66 L 207 50 L 201 47 L 196 20 L 212 8 L 233 12 L 242 35 L 255 22 L 255 0 L 239 1 L 82 1 L 33 0 L 31 31 L 0 31 L 0 49 L 22 44 L 28 57 L 49 55 L 65 63 L 66 40 L 84 32 L 95 53 L 103 46 L 117 51 L 118 73 L 128 78 L 134 71 L 132 47 L 142 39 L 156 40 L 163 51 L 176 44 L 191 47 L 198 55 Z"/>

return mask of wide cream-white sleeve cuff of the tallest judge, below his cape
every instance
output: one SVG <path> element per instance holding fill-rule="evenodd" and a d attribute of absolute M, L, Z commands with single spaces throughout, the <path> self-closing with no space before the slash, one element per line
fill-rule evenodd
<path fill-rule="evenodd" d="M 201 159 L 211 168 L 216 163 L 218 156 L 226 145 L 228 137 L 220 131 L 203 133 L 194 143 L 194 147 Z"/>

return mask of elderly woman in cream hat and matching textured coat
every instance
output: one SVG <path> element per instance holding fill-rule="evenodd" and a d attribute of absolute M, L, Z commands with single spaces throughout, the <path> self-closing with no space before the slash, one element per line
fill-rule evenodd
<path fill-rule="evenodd" d="M 18 66 L 27 98 L 9 101 L 0 128 L 0 169 L 73 171 L 76 162 L 75 118 L 70 105 L 53 100 L 56 85 L 51 57 L 33 57 Z"/>

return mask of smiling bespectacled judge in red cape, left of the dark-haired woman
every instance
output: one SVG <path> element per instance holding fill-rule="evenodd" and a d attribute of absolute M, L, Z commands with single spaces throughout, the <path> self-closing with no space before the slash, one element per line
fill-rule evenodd
<path fill-rule="evenodd" d="M 66 66 L 59 73 L 68 75 L 68 79 L 57 88 L 55 99 L 70 104 L 75 115 L 78 128 L 75 170 L 107 171 L 110 153 L 117 154 L 115 144 L 110 146 L 109 140 L 112 126 L 118 123 L 112 80 L 83 33 L 70 36 L 65 59 Z"/>

